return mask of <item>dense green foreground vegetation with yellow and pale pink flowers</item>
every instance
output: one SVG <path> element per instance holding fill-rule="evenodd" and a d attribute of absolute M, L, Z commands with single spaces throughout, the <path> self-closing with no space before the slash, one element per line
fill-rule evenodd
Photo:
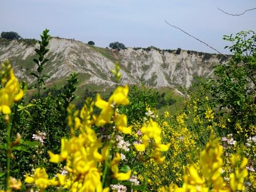
<path fill-rule="evenodd" d="M 9 61 L 1 66 L 0 190 L 256 190 L 253 31 L 225 36 L 233 57 L 164 115 L 157 109 L 174 99 L 127 85 L 106 98 L 88 90 L 77 107 L 75 73 L 61 89 L 43 92 L 48 32 L 35 50 L 36 94 L 29 102 Z M 111 73 L 118 82 L 118 63 Z"/>

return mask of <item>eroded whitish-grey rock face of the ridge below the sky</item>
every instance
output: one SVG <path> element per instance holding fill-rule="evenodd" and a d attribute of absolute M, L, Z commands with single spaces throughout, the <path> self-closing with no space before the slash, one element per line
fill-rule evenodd
<path fill-rule="evenodd" d="M 33 82 L 30 75 L 37 66 L 31 60 L 36 58 L 34 49 L 39 45 L 24 41 L 6 41 L 0 38 L 0 61 L 9 58 L 19 79 Z M 191 86 L 197 76 L 207 77 L 213 73 L 213 66 L 225 62 L 220 55 L 181 50 L 163 51 L 156 49 L 128 48 L 108 50 L 92 47 L 71 39 L 51 38 L 44 73 L 52 79 L 66 77 L 70 73 L 89 74 L 83 83 L 113 86 L 114 60 L 121 67 L 121 83 L 145 83 L 153 87 Z"/>

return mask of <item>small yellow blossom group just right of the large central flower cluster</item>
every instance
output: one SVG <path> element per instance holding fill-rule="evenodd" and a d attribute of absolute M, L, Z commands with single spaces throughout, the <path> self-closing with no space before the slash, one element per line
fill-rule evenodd
<path fill-rule="evenodd" d="M 143 134 L 142 143 L 134 143 L 135 149 L 137 151 L 145 151 L 146 147 L 149 146 L 150 139 L 153 139 L 155 143 L 155 149 L 152 155 L 153 158 L 158 163 L 165 161 L 165 157 L 162 157 L 162 151 L 167 151 L 170 147 L 170 143 L 167 145 L 162 144 L 161 128 L 158 123 L 150 119 L 148 124 L 143 124 L 141 133 Z"/>

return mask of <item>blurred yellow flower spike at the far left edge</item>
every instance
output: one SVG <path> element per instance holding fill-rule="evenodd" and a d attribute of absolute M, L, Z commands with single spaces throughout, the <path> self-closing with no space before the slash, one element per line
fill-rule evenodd
<path fill-rule="evenodd" d="M 5 114 L 6 121 L 9 121 L 10 107 L 13 102 L 21 100 L 23 91 L 19 89 L 18 79 L 15 77 L 8 60 L 1 65 L 1 85 L 0 113 Z"/>

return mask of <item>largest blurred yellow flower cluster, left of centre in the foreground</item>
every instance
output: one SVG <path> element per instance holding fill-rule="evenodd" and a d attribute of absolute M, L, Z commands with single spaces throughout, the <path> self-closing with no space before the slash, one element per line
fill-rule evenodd
<path fill-rule="evenodd" d="M 114 129 L 125 134 L 130 134 L 131 127 L 127 127 L 126 115 L 119 114 L 117 109 L 118 105 L 129 104 L 127 94 L 128 86 L 124 86 L 117 87 L 107 102 L 103 101 L 100 95 L 97 95 L 95 106 L 101 109 L 98 117 L 93 114 L 94 102 L 91 99 L 86 100 L 85 106 L 83 106 L 80 112 L 78 110 L 74 111 L 74 106 L 70 105 L 67 111 L 69 113 L 68 125 L 70 127 L 71 138 L 61 139 L 60 154 L 53 154 L 51 151 L 48 152 L 50 162 L 59 163 L 66 161 L 66 170 L 69 174 L 57 174 L 57 185 L 70 191 L 98 192 L 109 190 L 109 187 L 103 189 L 101 177 L 102 163 L 105 163 L 106 167 L 111 157 L 110 146 L 106 145 L 102 147 L 101 140 L 97 138 L 92 126 L 103 126 L 107 123 L 114 123 Z M 78 131 L 79 134 L 77 135 L 75 131 Z M 115 130 L 113 130 L 113 133 L 115 133 Z M 119 173 L 118 164 L 120 159 L 120 154 L 115 154 L 110 166 L 111 171 L 114 173 L 112 176 L 119 181 L 124 181 L 130 178 L 131 170 L 127 171 L 127 173 Z M 39 171 L 42 172 L 40 177 L 38 177 Z M 35 183 L 40 189 L 45 189 L 51 185 L 50 181 L 44 169 L 37 169 L 33 178 L 29 176 L 26 178 L 26 182 Z"/>

